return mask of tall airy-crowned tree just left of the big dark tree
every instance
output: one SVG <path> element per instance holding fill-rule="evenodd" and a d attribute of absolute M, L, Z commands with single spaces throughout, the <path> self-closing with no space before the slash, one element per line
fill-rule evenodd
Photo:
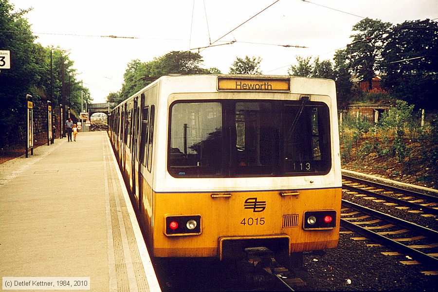
<path fill-rule="evenodd" d="M 372 78 L 382 60 L 382 38 L 390 26 L 389 22 L 370 18 L 362 19 L 353 26 L 353 31 L 358 33 L 350 36 L 353 43 L 347 47 L 351 70 L 360 79 L 368 81 L 369 89 L 372 89 Z"/>

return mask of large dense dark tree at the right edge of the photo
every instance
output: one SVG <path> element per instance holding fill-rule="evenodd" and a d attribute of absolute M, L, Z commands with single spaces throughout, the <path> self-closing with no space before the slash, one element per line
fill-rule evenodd
<path fill-rule="evenodd" d="M 396 98 L 438 109 L 438 23 L 405 21 L 384 38 L 380 70 L 383 85 Z"/>

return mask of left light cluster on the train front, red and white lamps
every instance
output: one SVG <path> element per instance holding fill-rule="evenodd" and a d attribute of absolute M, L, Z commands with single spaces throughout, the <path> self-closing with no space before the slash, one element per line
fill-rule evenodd
<path fill-rule="evenodd" d="M 200 235 L 200 215 L 164 215 L 166 236 Z"/>

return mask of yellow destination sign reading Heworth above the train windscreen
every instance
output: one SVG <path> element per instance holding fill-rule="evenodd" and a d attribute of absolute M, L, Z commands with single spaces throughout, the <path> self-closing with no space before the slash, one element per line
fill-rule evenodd
<path fill-rule="evenodd" d="M 290 91 L 289 78 L 219 77 L 219 91 Z"/>

